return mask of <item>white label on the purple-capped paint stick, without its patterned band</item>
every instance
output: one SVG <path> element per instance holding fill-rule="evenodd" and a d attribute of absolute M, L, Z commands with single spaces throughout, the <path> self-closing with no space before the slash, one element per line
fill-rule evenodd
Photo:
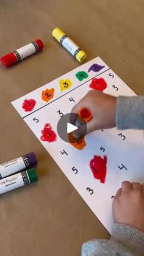
<path fill-rule="evenodd" d="M 0 164 L 0 175 L 1 178 L 7 177 L 10 174 L 14 174 L 19 170 L 25 169 L 26 166 L 24 164 L 23 158 L 15 158 L 7 163 Z"/>

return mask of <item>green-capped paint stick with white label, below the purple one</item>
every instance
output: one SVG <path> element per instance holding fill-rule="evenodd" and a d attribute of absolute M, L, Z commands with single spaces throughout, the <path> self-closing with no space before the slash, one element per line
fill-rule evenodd
<path fill-rule="evenodd" d="M 23 170 L 18 174 L 14 174 L 7 178 L 2 178 L 0 181 L 0 194 L 4 194 L 10 190 L 20 188 L 21 186 L 28 185 L 37 181 L 37 172 L 35 169 Z"/>

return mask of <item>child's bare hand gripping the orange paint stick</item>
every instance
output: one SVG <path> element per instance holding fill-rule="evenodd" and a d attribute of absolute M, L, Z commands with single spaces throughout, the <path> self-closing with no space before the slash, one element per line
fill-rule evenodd
<path fill-rule="evenodd" d="M 90 90 L 71 110 L 78 113 L 81 108 L 92 111 L 93 119 L 87 123 L 87 133 L 98 129 L 115 127 L 115 105 L 117 98 L 99 90 Z"/>

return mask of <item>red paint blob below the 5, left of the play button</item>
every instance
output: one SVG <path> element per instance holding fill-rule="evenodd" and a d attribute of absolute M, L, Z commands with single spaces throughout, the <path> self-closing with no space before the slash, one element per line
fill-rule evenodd
<path fill-rule="evenodd" d="M 40 137 L 41 141 L 54 142 L 57 140 L 57 135 L 52 131 L 50 123 L 46 123 L 43 130 L 41 131 L 42 136 Z"/>

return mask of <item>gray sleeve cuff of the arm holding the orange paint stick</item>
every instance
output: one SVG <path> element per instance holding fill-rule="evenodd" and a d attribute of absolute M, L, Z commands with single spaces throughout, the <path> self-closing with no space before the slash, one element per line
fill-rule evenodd
<path fill-rule="evenodd" d="M 118 96 L 116 125 L 119 130 L 144 129 L 144 96 Z"/>

